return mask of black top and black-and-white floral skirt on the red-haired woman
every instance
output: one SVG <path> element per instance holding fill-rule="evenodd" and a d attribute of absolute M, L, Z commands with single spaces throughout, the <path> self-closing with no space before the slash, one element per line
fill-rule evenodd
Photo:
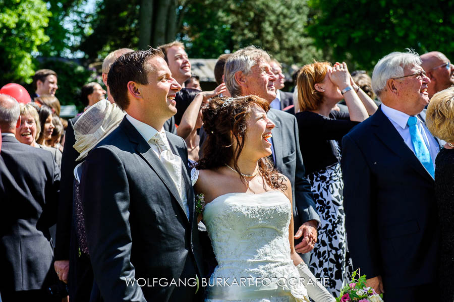
<path fill-rule="evenodd" d="M 326 289 L 338 296 L 353 272 L 347 248 L 339 142 L 358 123 L 352 122 L 348 113 L 337 111 L 331 111 L 329 117 L 303 111 L 296 117 L 306 178 L 320 216 L 309 267 Z"/>

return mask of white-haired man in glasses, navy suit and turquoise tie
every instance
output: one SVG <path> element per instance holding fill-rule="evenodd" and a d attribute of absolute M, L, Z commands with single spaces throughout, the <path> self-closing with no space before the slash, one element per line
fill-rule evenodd
<path fill-rule="evenodd" d="M 417 117 L 429 103 L 430 80 L 420 64 L 412 52 L 383 57 L 372 75 L 382 105 L 342 141 L 353 265 L 387 302 L 437 300 L 439 145 Z"/>

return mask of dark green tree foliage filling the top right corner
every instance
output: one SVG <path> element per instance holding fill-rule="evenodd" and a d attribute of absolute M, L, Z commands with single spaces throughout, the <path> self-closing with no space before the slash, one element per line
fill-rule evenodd
<path fill-rule="evenodd" d="M 438 50 L 454 57 L 454 2 L 450 0 L 311 0 L 317 12 L 309 33 L 333 60 L 371 70 L 392 51 Z"/>

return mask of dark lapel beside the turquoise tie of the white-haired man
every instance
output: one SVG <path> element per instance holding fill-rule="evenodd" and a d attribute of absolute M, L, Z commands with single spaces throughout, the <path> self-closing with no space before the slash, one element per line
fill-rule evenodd
<path fill-rule="evenodd" d="M 413 151 L 407 146 L 404 139 L 386 115 L 384 115 L 383 111 L 381 111 L 381 107 L 379 107 L 373 115 L 373 121 L 373 125 L 377 127 L 375 135 L 407 165 L 415 169 L 421 176 L 433 182 L 432 176 L 427 172 Z"/>

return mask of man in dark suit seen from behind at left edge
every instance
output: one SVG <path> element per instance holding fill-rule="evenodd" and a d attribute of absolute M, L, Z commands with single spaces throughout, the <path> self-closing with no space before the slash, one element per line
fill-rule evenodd
<path fill-rule="evenodd" d="M 0 293 L 8 301 L 54 301 L 49 227 L 56 221 L 60 170 L 49 152 L 20 143 L 19 103 L 0 95 Z M 57 299 L 58 300 L 58 299 Z"/>

